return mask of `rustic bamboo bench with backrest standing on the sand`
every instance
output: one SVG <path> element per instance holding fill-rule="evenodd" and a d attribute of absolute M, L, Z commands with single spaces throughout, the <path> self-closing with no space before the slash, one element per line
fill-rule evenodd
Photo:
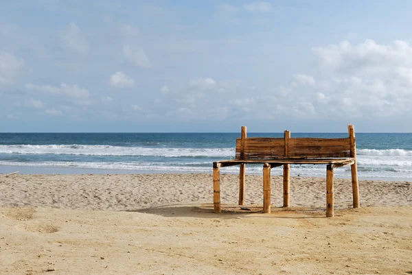
<path fill-rule="evenodd" d="M 220 213 L 220 167 L 240 165 L 239 205 L 244 204 L 244 174 L 247 163 L 263 163 L 263 212 L 271 213 L 271 168 L 283 165 L 283 206 L 289 207 L 290 164 L 326 165 L 326 217 L 334 216 L 334 167 L 351 165 L 354 208 L 359 207 L 358 169 L 353 125 L 347 125 L 349 136 L 344 139 L 247 138 L 242 126 L 241 137 L 236 139 L 233 160 L 213 163 L 214 212 Z"/>

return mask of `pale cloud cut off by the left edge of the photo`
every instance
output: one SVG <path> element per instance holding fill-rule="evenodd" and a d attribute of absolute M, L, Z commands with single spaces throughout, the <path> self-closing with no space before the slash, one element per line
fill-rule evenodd
<path fill-rule="evenodd" d="M 0 85 L 13 84 L 21 73 L 23 65 L 23 59 L 0 51 Z"/>

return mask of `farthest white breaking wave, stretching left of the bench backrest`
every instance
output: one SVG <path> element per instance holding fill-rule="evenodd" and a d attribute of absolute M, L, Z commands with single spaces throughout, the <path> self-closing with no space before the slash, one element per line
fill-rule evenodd
<path fill-rule="evenodd" d="M 82 156 L 230 157 L 234 148 L 150 148 L 111 145 L 0 145 L 0 154 L 69 154 Z"/>

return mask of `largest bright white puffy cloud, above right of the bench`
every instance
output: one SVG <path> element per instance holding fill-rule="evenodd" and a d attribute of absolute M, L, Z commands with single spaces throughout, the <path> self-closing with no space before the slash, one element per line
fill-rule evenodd
<path fill-rule="evenodd" d="M 288 110 L 295 117 L 408 117 L 412 115 L 412 47 L 397 40 L 314 47 L 317 73 L 297 74 L 272 95 L 253 99 L 274 117 Z M 273 108 L 272 106 L 277 106 Z"/>

